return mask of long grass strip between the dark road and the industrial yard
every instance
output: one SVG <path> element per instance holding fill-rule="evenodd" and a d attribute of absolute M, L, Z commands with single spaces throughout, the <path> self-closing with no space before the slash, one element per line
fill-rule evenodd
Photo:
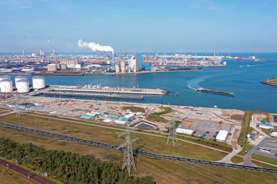
<path fill-rule="evenodd" d="M 21 114 L 20 119 L 18 119 L 15 114 L 9 114 L 6 116 L 0 116 L 0 120 L 13 125 L 20 125 L 45 132 L 64 134 L 67 136 L 74 136 L 80 139 L 98 141 L 100 143 L 107 143 L 111 145 L 120 145 L 120 143 L 123 142 L 122 138 L 118 138 L 116 136 L 116 132 L 121 132 L 120 130 L 112 130 L 105 127 L 83 125 L 63 120 L 53 120 L 48 117 L 44 118 L 32 116 L 30 114 Z M 216 150 L 211 150 L 206 147 L 182 141 L 179 141 L 178 146 L 173 147 L 170 144 L 166 145 L 166 138 L 137 133 L 132 134 L 132 136 L 139 138 L 139 140 L 134 143 L 133 148 L 145 152 L 188 158 L 194 157 L 195 159 L 212 161 L 220 160 L 226 155 L 223 152 L 218 152 Z M 203 152 L 205 152 L 205 154 L 203 154 Z"/>

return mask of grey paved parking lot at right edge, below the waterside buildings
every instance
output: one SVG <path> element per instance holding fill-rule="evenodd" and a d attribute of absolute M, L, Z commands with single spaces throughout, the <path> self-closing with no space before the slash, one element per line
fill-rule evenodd
<path fill-rule="evenodd" d="M 265 150 L 259 150 L 259 148 L 265 148 Z M 251 153 L 277 159 L 275 156 L 277 154 L 277 138 L 266 137 L 251 150 Z"/>

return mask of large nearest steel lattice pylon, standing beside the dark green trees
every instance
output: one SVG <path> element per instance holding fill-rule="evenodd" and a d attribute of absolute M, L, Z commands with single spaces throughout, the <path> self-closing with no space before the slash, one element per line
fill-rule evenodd
<path fill-rule="evenodd" d="M 139 138 L 131 139 L 131 132 L 133 130 L 134 129 L 127 127 L 125 132 L 116 132 L 118 136 L 125 136 L 125 141 L 120 146 L 118 146 L 117 149 L 120 149 L 121 147 L 123 147 L 124 149 L 122 170 L 124 170 L 125 167 L 127 167 L 129 175 L 131 174 L 132 167 L 134 167 L 134 170 L 136 170 L 136 165 L 134 164 L 132 142 L 139 139 Z"/>

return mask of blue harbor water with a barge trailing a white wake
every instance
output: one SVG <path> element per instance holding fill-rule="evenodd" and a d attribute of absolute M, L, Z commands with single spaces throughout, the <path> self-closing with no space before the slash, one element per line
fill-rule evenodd
<path fill-rule="evenodd" d="M 226 54 L 225 54 L 226 55 Z M 209 67 L 199 72 L 167 72 L 150 74 L 120 74 L 95 76 L 44 76 L 46 85 L 97 85 L 111 87 L 161 88 L 170 95 L 148 96 L 143 100 L 116 100 L 136 103 L 160 103 L 163 105 L 187 105 L 196 107 L 231 108 L 239 110 L 260 110 L 277 113 L 277 88 L 264 85 L 265 81 L 277 77 L 277 53 L 237 53 L 232 56 L 255 56 L 265 62 L 229 60 L 226 67 Z M 249 65 L 241 67 L 240 65 Z M 14 78 L 15 75 L 12 76 Z M 33 76 L 28 76 L 29 81 Z M 235 96 L 224 96 L 197 92 L 204 88 L 234 92 Z M 72 96 L 70 97 L 72 98 Z M 86 99 L 86 97 L 76 97 Z"/>

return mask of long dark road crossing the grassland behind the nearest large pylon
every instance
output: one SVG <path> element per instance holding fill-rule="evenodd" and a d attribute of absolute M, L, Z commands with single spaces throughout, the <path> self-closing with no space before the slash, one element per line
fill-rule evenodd
<path fill-rule="evenodd" d="M 26 128 L 26 127 L 19 127 L 19 126 L 15 126 L 15 125 L 8 125 L 5 123 L 0 123 L 1 126 L 3 127 L 9 127 L 15 130 L 21 130 L 21 131 L 25 131 L 25 132 L 34 132 L 37 134 L 42 134 L 42 135 L 46 135 L 46 136 L 53 136 L 53 137 L 57 137 L 60 139 L 66 139 L 69 141 L 76 141 L 79 143 L 87 143 L 89 145 L 96 145 L 99 147 L 106 147 L 109 149 L 118 149 L 117 146 L 114 145 L 107 145 L 104 143 L 97 143 L 94 141 L 87 141 L 84 139 L 78 139 L 78 138 L 74 138 L 71 136 L 63 136 L 60 134 L 52 134 L 49 132 L 43 132 L 43 131 L 39 131 L 39 130 L 33 130 L 30 128 Z M 125 148 L 120 147 L 118 150 L 120 151 L 124 151 Z M 197 159 L 187 159 L 187 158 L 181 158 L 181 157 L 175 157 L 175 156 L 163 156 L 163 155 L 159 155 L 159 154 L 152 154 L 152 153 L 148 153 L 148 152 L 141 152 L 138 150 L 133 150 L 134 154 L 141 154 L 143 156 L 149 156 L 155 159 L 167 159 L 167 160 L 173 160 L 173 161 L 186 161 L 186 162 L 190 162 L 190 163 L 202 163 L 202 164 L 207 164 L 207 165 L 218 165 L 218 166 L 223 166 L 223 167 L 231 167 L 231 168 L 235 168 L 235 169 L 243 169 L 243 170 L 254 170 L 254 171 L 259 171 L 259 172 L 271 172 L 271 173 L 276 173 L 277 174 L 277 170 L 272 170 L 272 169 L 267 169 L 267 168 L 261 168 L 261 167 L 251 167 L 251 166 L 244 166 L 244 165 L 237 165 L 237 164 L 231 164 L 231 163 L 220 163 L 220 162 L 215 162 L 215 161 L 202 161 L 202 160 L 197 160 Z"/>

